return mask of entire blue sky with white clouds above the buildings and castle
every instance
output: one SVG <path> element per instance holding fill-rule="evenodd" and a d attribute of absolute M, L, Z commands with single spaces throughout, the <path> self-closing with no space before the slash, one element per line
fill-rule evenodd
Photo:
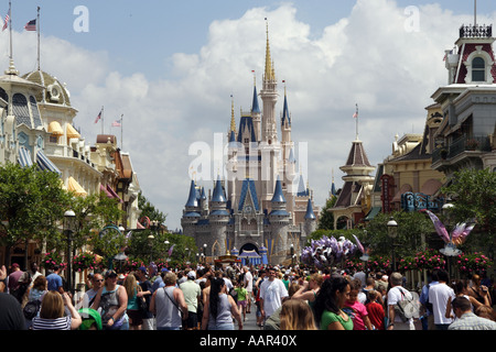
<path fill-rule="evenodd" d="M 180 227 L 187 198 L 190 146 L 213 145 L 251 103 L 252 74 L 261 85 L 266 23 L 279 80 L 285 80 L 295 143 L 305 142 L 305 179 L 324 205 L 334 172 L 359 138 L 374 165 L 390 154 L 395 135 L 422 133 L 430 96 L 446 80 L 444 50 L 460 25 L 473 22 L 473 0 L 12 1 L 13 56 L 21 74 L 36 67 L 36 35 L 23 25 L 41 7 L 41 68 L 67 84 L 78 110 L 74 124 L 87 144 L 105 106 L 105 133 L 125 116 L 129 152 L 143 194 Z M 88 32 L 75 32 L 74 10 L 88 10 Z M 409 7 L 418 28 L 405 28 Z M 4 16 L 9 1 L 0 2 Z M 477 22 L 494 23 L 494 0 L 477 1 Z M 0 57 L 8 66 L 8 33 Z M 4 69 L 0 68 L 0 69 Z M 282 111 L 283 85 L 279 84 Z M 202 180 L 207 188 L 212 180 Z"/>

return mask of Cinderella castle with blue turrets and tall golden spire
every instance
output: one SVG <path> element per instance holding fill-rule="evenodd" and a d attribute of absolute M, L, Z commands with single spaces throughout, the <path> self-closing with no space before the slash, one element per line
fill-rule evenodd
<path fill-rule="evenodd" d="M 251 109 L 241 111 L 238 127 L 233 103 L 225 179 L 218 176 L 213 191 L 191 182 L 181 226 L 207 262 L 235 254 L 249 263 L 280 264 L 300 253 L 315 231 L 319 209 L 302 172 L 296 173 L 285 88 L 277 121 L 273 66 L 267 31 L 262 89 L 258 94 L 254 85 Z"/>

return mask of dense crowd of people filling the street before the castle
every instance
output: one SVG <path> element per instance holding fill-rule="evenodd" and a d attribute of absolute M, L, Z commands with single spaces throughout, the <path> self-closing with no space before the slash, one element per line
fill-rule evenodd
<path fill-rule="evenodd" d="M 389 275 L 388 275 L 389 274 Z M 0 270 L 0 330 L 242 330 L 255 310 L 261 330 L 496 330 L 495 285 L 444 270 L 419 287 L 419 315 L 400 273 L 237 264 L 185 270 L 152 263 L 127 273 L 91 273 L 73 297 L 60 268 Z"/>

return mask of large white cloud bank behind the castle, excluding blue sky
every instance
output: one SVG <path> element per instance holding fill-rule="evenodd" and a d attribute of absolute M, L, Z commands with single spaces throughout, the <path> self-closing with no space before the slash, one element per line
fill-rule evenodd
<path fill-rule="evenodd" d="M 140 68 L 132 74 L 114 72 L 111 53 L 93 53 L 47 37 L 42 68 L 67 82 L 79 110 L 76 124 L 88 143 L 100 133 L 94 120 L 101 106 L 106 133 L 120 138 L 120 130 L 109 130 L 109 124 L 125 114 L 123 150 L 131 155 L 144 195 L 169 213 L 168 224 L 175 229 L 194 158 L 187 155 L 188 146 L 196 141 L 213 145 L 214 133 L 227 132 L 230 95 L 237 120 L 241 108 L 250 108 L 252 69 L 261 87 L 265 18 L 276 75 L 287 81 L 292 136 L 296 143 L 309 142 L 310 186 L 323 205 L 332 169 L 336 186 L 342 185 L 338 167 L 355 139 L 355 103 L 359 138 L 373 164 L 390 153 L 396 133 L 423 130 L 424 107 L 446 80 L 444 50 L 453 47 L 457 29 L 471 16 L 455 16 L 436 4 L 418 9 L 418 31 L 409 32 L 405 8 L 388 0 L 358 0 L 349 16 L 328 23 L 320 37 L 311 35 L 311 24 L 296 20 L 292 4 L 250 9 L 238 19 L 213 21 L 201 51 L 164 58 L 173 76 L 158 73 L 155 79 L 147 79 Z M 481 21 L 490 19 L 481 16 Z M 14 58 L 24 72 L 34 69 L 31 34 L 18 34 L 23 42 L 15 44 Z M 283 85 L 279 87 L 278 116 Z"/>

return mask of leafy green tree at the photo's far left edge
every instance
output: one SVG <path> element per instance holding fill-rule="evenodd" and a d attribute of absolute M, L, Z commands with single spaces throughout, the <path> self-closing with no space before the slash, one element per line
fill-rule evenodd
<path fill-rule="evenodd" d="M 56 173 L 7 163 L 0 167 L 1 245 L 6 264 L 11 248 L 40 240 L 61 243 L 61 223 L 68 209 L 69 195 Z"/>

